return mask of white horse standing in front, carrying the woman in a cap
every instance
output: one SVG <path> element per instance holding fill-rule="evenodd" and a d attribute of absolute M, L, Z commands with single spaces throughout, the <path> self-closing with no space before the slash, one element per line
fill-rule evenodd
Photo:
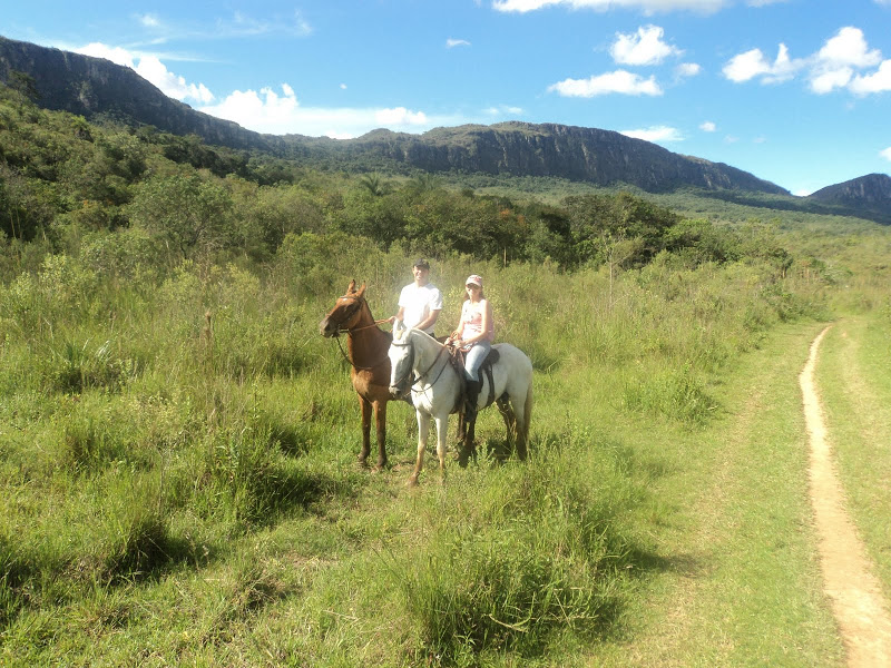
<path fill-rule="evenodd" d="M 497 343 L 492 348 L 499 353 L 498 361 L 492 365 L 495 392 L 490 389 L 488 374 L 480 370 L 482 389 L 478 407 L 486 407 L 490 403 L 488 399 L 495 396 L 508 429 L 508 439 L 516 440 L 517 455 L 525 460 L 532 411 L 532 363 L 522 351 L 509 343 Z M 409 478 L 409 484 L 415 485 L 423 465 L 431 418 L 437 423 L 440 474 L 446 472 L 449 414 L 461 409 L 462 379 L 449 360 L 447 346 L 420 330 L 405 328 L 399 321 L 393 327 L 393 342 L 388 354 L 390 392 L 393 396 L 403 396 L 411 384 L 412 402 L 418 414 L 418 461 Z M 464 439 L 464 458 L 472 441 L 473 425 L 470 424 Z"/>

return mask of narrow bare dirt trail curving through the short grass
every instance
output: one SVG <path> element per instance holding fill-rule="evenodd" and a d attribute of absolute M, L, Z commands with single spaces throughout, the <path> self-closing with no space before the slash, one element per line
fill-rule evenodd
<path fill-rule="evenodd" d="M 811 501 L 820 543 L 823 584 L 848 650 L 851 667 L 891 666 L 891 616 L 873 566 L 844 508 L 844 492 L 832 464 L 831 445 L 814 382 L 823 330 L 811 344 L 801 372 L 804 418 L 811 442 Z"/>

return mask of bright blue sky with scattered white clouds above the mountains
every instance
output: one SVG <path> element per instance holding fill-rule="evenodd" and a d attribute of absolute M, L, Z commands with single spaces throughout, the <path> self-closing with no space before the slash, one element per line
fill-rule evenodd
<path fill-rule="evenodd" d="M 616 130 L 795 194 L 891 171 L 891 0 L 12 2 L 0 35 L 128 65 L 276 135 Z"/>

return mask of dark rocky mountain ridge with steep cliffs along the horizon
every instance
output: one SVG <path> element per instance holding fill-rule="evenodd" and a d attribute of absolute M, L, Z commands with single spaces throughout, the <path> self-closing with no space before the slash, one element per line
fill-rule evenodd
<path fill-rule="evenodd" d="M 16 71 L 33 78 L 37 102 L 49 109 L 88 120 L 110 118 L 174 135 L 194 134 L 212 145 L 304 163 L 326 161 L 337 168 L 371 163 L 395 170 L 559 177 L 649 193 L 693 187 L 792 197 L 785 188 L 731 165 L 599 128 L 511 120 L 439 127 L 421 135 L 378 128 L 354 139 L 265 135 L 170 99 L 131 68 L 0 37 L 0 81 L 9 82 Z M 826 186 L 801 200 L 863 209 L 891 222 L 891 177 L 866 175 Z"/>

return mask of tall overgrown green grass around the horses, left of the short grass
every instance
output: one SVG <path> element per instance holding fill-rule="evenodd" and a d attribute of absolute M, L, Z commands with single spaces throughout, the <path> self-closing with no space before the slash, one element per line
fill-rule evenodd
<path fill-rule="evenodd" d="M 317 333 L 351 278 L 369 284 L 375 316 L 391 314 L 408 254 L 302 237 L 267 267 L 186 263 L 128 281 L 99 272 L 98 255 L 62 257 L 0 287 L 4 659 L 62 660 L 47 635 L 106 612 L 90 632 L 120 662 L 146 638 L 167 662 L 473 665 L 607 637 L 647 547 L 631 519 L 646 491 L 604 425 L 698 429 L 721 407 L 718 375 L 824 303 L 823 283 L 757 264 L 663 258 L 610 279 L 434 262 L 441 332 L 463 278 L 482 273 L 497 338 L 532 358 L 533 454 L 451 466 L 444 487 L 424 479 L 409 494 L 411 412 L 390 410 L 394 470 L 355 469 L 349 365 Z M 483 440 L 501 431 L 481 416 Z M 177 593 L 213 598 L 206 578 L 221 572 L 229 584 L 208 611 Z M 184 618 L 176 639 L 161 631 L 169 606 Z M 121 622 L 127 607 L 144 621 Z M 263 635 L 258 616 L 305 632 Z M 78 633 L 65 658 L 88 661 Z"/>

